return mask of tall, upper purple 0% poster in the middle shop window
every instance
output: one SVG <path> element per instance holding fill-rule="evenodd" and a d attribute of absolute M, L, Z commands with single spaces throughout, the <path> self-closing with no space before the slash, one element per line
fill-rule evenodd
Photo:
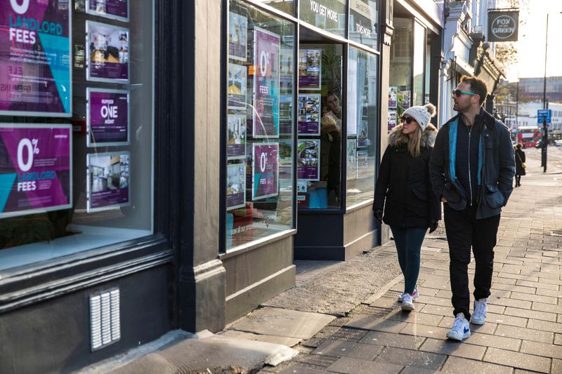
<path fill-rule="evenodd" d="M 259 27 L 254 31 L 254 138 L 279 137 L 280 37 Z"/>

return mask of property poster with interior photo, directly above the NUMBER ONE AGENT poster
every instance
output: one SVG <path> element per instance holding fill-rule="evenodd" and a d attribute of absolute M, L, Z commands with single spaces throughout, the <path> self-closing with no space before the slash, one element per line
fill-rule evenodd
<path fill-rule="evenodd" d="M 86 21 L 86 79 L 129 83 L 129 29 Z"/>

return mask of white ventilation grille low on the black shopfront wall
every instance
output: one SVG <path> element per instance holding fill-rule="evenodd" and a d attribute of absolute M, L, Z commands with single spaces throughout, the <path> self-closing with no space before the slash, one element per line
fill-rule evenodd
<path fill-rule="evenodd" d="M 119 288 L 90 296 L 90 332 L 92 351 L 121 338 Z"/>

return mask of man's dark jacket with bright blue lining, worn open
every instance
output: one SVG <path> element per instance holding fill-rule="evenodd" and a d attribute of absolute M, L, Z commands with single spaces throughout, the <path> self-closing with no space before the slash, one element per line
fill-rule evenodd
<path fill-rule="evenodd" d="M 457 147 L 455 134 L 450 131 L 455 124 L 458 126 L 459 116 L 460 114 L 454 116 L 440 128 L 431 154 L 429 173 L 437 198 L 440 200 L 445 197 L 450 208 L 462 211 L 470 202 L 467 201 L 459 180 L 451 176 L 455 172 L 452 162 L 455 159 L 455 149 L 456 152 L 468 152 L 468 147 Z M 476 211 L 478 220 L 501 213 L 502 206 L 507 204 L 507 199 L 513 191 L 515 174 L 514 149 L 511 146 L 509 130 L 504 123 L 484 109 L 481 109 L 480 116 L 482 121 L 476 121 L 474 124 L 481 126 L 482 137 L 482 152 L 478 160 L 481 167 Z M 453 152 L 450 152 L 452 148 Z"/>

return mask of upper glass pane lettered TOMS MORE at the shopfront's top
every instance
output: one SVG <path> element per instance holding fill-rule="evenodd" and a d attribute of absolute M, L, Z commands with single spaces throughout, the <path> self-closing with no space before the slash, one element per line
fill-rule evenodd
<path fill-rule="evenodd" d="M 349 39 L 378 49 L 377 26 L 379 22 L 378 2 L 374 0 L 351 0 L 349 8 Z"/>

